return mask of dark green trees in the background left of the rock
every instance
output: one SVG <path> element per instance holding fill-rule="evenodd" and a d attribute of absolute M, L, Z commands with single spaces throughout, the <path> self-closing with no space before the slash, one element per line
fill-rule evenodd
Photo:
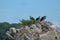
<path fill-rule="evenodd" d="M 6 38 L 6 31 L 9 30 L 10 27 L 20 28 L 20 23 L 8 23 L 8 22 L 2 22 L 0 23 L 0 39 L 4 40 Z"/>

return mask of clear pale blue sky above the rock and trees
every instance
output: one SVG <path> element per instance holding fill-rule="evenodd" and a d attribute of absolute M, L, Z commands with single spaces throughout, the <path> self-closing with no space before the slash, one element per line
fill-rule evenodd
<path fill-rule="evenodd" d="M 0 22 L 18 23 L 29 16 L 60 23 L 60 0 L 0 0 Z"/>

